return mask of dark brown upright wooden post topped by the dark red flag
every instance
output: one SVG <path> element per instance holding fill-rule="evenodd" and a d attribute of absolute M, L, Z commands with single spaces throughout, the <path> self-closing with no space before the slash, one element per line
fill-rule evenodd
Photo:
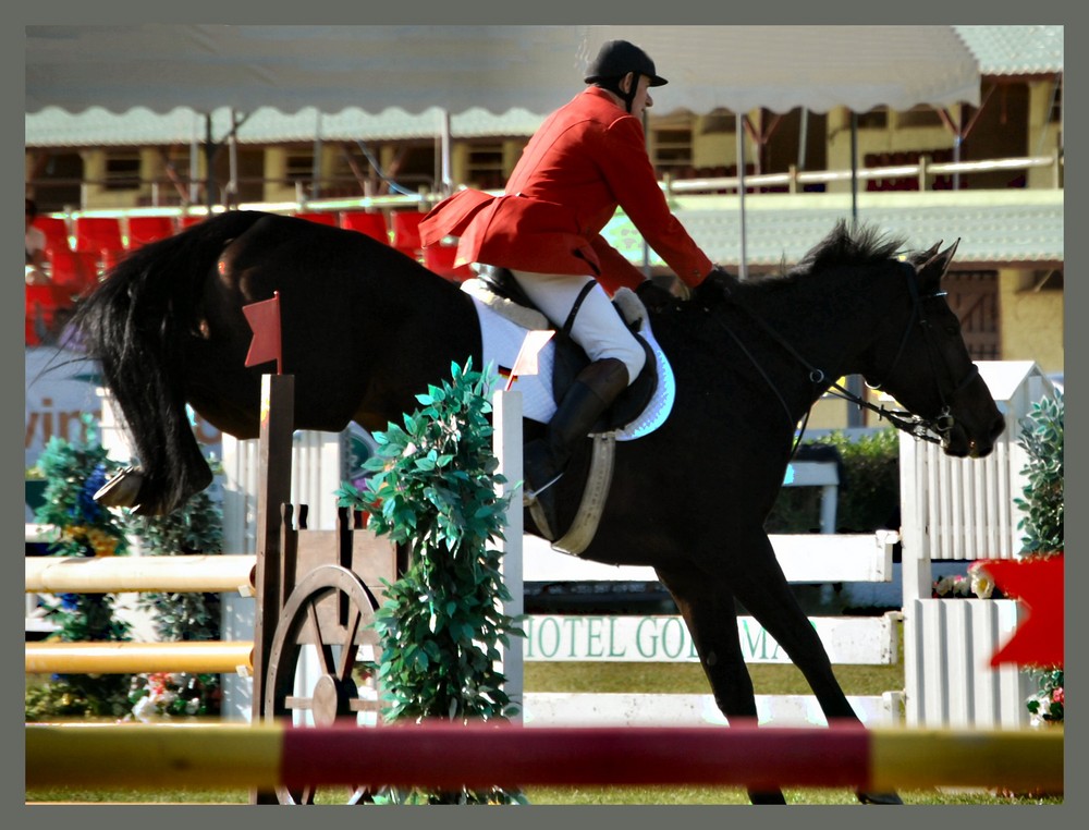
<path fill-rule="evenodd" d="M 254 621 L 254 693 L 252 723 L 265 720 L 265 685 L 281 596 L 281 505 L 291 501 L 291 437 L 295 430 L 295 377 L 261 378 L 261 427 L 257 483 L 257 619 Z M 253 804 L 277 804 L 276 793 L 253 791 Z"/>

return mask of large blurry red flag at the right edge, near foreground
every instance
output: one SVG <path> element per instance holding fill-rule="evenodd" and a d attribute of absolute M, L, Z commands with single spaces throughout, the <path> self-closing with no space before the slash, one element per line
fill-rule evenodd
<path fill-rule="evenodd" d="M 1063 557 L 987 560 L 979 563 L 1007 597 L 1019 600 L 1028 618 L 991 657 L 991 666 L 1016 663 L 1050 669 L 1063 664 Z"/>

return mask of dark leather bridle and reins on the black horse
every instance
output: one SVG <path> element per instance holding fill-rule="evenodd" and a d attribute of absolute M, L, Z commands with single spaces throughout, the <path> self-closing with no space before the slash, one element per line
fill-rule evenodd
<path fill-rule="evenodd" d="M 876 413 L 879 419 L 884 418 L 890 424 L 892 424 L 892 426 L 896 427 L 896 429 L 900 429 L 901 431 L 913 436 L 917 440 L 929 441 L 930 443 L 935 443 L 935 444 L 942 444 L 945 441 L 946 435 L 951 429 L 953 429 L 953 426 L 956 422 L 953 418 L 953 411 L 949 403 L 949 400 L 945 393 L 942 391 L 942 385 L 938 380 L 937 358 L 940 355 L 938 351 L 938 345 L 934 342 L 933 331 L 930 328 L 930 320 L 922 315 L 922 304 L 928 300 L 937 300 L 939 297 L 943 297 L 945 296 L 946 292 L 935 291 L 933 293 L 926 295 L 919 294 L 919 288 L 915 280 L 916 271 L 914 266 L 904 260 L 901 260 L 900 265 L 902 266 L 903 273 L 907 279 L 907 291 L 911 297 L 911 315 L 907 320 L 907 325 L 904 327 L 904 333 L 901 337 L 900 347 L 896 350 L 896 355 L 895 357 L 893 357 L 892 365 L 885 371 L 885 378 L 891 378 L 895 373 L 896 366 L 900 364 L 901 357 L 904 356 L 904 352 L 907 347 L 907 341 L 910 338 L 911 330 L 914 329 L 915 325 L 918 324 L 922 328 L 923 340 L 926 341 L 927 345 L 927 358 L 930 361 L 931 376 L 934 378 L 934 383 L 938 386 L 938 398 L 941 401 L 941 408 L 938 415 L 930 418 L 923 417 L 921 415 L 916 415 L 915 413 L 908 412 L 906 410 L 890 410 L 886 408 L 885 406 L 879 406 L 877 404 L 870 403 L 869 401 L 867 401 L 864 398 L 860 398 L 851 390 L 845 389 L 839 381 L 832 381 L 831 383 L 828 383 L 828 376 L 825 375 L 825 373 L 822 369 L 815 367 L 805 357 L 803 357 L 797 352 L 797 350 L 794 349 L 793 345 L 791 345 L 786 340 L 784 340 L 779 334 L 779 332 L 772 329 L 761 317 L 757 316 L 749 308 L 737 302 L 732 302 L 732 304 L 737 308 L 744 310 L 752 320 L 756 321 L 758 326 L 760 326 L 760 328 L 762 328 L 772 338 L 772 340 L 774 340 L 783 349 L 785 349 L 798 363 L 800 363 L 809 371 L 809 382 L 812 383 L 815 389 L 820 389 L 821 387 L 824 387 L 827 390 L 829 390 L 829 394 L 831 394 L 832 396 L 840 398 L 864 410 L 869 410 L 870 412 Z M 760 363 L 756 359 L 756 357 L 752 356 L 752 353 L 749 352 L 748 349 L 746 349 L 745 344 L 741 341 L 741 339 L 733 331 L 731 331 L 729 327 L 723 325 L 723 328 L 726 330 L 730 337 L 734 339 L 734 342 L 737 343 L 737 346 L 745 353 L 745 355 L 749 358 L 752 365 L 757 368 L 757 370 L 763 377 L 768 386 L 771 387 L 772 391 L 775 393 L 775 396 L 779 398 L 779 401 L 783 405 L 783 408 L 785 410 L 786 416 L 791 420 L 791 426 L 793 428 L 795 425 L 794 417 L 791 414 L 791 410 L 786 405 L 786 401 L 783 399 L 783 395 L 780 393 L 779 388 L 775 386 L 774 381 L 763 370 L 763 367 L 760 366 Z M 947 364 L 945 365 L 945 368 L 949 369 Z M 949 375 L 952 373 L 946 371 L 945 374 Z M 950 398 L 955 398 L 957 394 L 959 394 L 972 380 L 976 379 L 976 377 L 978 377 L 978 375 L 979 375 L 979 367 L 977 367 L 976 364 L 972 364 L 971 370 L 968 371 L 968 374 L 954 387 L 952 393 L 950 394 Z M 884 383 L 885 381 L 881 381 L 878 383 L 872 383 L 867 381 L 866 385 L 870 389 L 880 391 L 884 386 Z M 802 436 L 805 432 L 806 424 L 808 423 L 808 420 L 809 420 L 809 410 L 806 411 L 806 414 L 802 420 L 802 427 L 798 429 L 797 437 L 795 438 L 794 441 L 794 448 L 791 451 L 792 455 L 797 450 L 798 444 L 802 442 Z"/>

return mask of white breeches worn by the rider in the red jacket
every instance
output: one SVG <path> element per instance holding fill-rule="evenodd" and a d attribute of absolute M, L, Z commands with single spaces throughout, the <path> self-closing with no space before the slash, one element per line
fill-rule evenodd
<path fill-rule="evenodd" d="M 647 362 L 647 354 L 635 335 L 628 331 L 620 313 L 604 289 L 591 277 L 570 273 L 533 273 L 515 271 L 511 273 L 518 281 L 534 304 L 562 328 L 567 321 L 578 293 L 587 282 L 594 288 L 583 298 L 571 329 L 571 339 L 583 347 L 591 362 L 614 357 L 627 366 L 627 382 L 631 386 Z"/>

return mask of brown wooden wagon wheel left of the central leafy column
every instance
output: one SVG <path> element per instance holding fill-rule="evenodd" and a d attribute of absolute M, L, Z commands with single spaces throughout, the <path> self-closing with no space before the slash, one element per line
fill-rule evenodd
<path fill-rule="evenodd" d="M 352 571 L 319 565 L 306 574 L 284 602 L 269 655 L 265 684 L 265 717 L 295 720 L 308 713 L 315 727 L 377 710 L 376 701 L 359 697 L 354 676 L 358 668 L 360 634 L 374 620 L 378 602 Z M 320 675 L 308 688 L 296 691 L 298 661 L 304 652 L 317 656 Z M 337 788 L 341 793 L 345 788 Z M 322 788 L 321 801 L 340 801 L 332 788 Z M 367 800 L 360 789 L 346 788 L 345 803 Z M 277 786 L 281 804 L 314 804 L 315 788 Z"/>

